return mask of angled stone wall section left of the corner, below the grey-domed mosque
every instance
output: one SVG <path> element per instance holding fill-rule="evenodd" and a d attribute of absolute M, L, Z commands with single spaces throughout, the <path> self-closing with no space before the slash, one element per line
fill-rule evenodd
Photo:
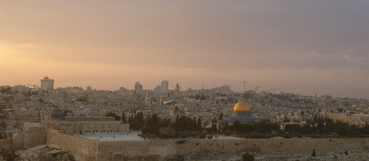
<path fill-rule="evenodd" d="M 50 129 L 47 134 L 46 144 L 50 147 L 68 150 L 77 161 L 97 160 L 97 140 L 86 139 Z"/>

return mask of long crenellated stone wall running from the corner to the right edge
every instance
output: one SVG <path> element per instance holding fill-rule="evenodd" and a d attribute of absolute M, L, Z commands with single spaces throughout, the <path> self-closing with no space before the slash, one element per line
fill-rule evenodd
<path fill-rule="evenodd" d="M 231 153 L 245 151 L 305 151 L 365 149 L 369 138 L 356 139 L 179 139 L 100 141 L 98 160 L 161 160 L 172 154 Z"/>

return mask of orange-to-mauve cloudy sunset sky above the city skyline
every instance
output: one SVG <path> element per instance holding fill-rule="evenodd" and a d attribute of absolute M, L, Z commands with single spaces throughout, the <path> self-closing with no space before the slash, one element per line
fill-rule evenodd
<path fill-rule="evenodd" d="M 0 85 L 153 89 L 165 75 L 169 89 L 369 99 L 368 15 L 367 0 L 0 0 Z"/>

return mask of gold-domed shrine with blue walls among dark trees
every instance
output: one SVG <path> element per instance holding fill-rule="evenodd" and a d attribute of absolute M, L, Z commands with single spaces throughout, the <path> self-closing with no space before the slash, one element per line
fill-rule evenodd
<path fill-rule="evenodd" d="M 241 124 L 254 124 L 255 122 L 261 122 L 261 118 L 255 118 L 251 116 L 251 107 L 244 101 L 239 101 L 233 108 L 233 116 L 222 117 L 222 122 L 233 124 L 238 121 Z"/>

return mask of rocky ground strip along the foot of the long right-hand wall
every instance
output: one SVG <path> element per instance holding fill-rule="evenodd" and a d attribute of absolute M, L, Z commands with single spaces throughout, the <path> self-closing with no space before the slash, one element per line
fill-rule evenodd
<path fill-rule="evenodd" d="M 255 161 L 368 161 L 369 150 L 315 150 L 316 156 L 312 157 L 312 151 L 296 152 L 258 152 L 251 153 L 255 156 Z M 199 154 L 176 156 L 167 160 L 183 161 L 241 161 L 242 153 L 227 154 Z"/>

